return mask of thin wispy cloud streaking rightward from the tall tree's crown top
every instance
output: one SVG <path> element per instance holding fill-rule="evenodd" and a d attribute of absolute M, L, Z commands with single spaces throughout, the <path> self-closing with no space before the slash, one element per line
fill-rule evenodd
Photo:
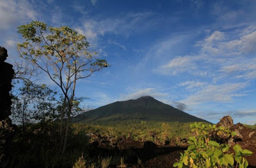
<path fill-rule="evenodd" d="M 91 46 L 97 47 L 99 38 L 105 34 L 118 34 L 128 37 L 131 33 L 142 31 L 150 27 L 151 22 L 146 22 L 152 15 L 150 12 L 127 13 L 109 18 L 85 18 L 82 26 L 75 29 L 86 36 Z"/>

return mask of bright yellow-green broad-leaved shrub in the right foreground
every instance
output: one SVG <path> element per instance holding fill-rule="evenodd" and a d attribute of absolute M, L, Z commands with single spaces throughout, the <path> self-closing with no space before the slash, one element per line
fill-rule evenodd
<path fill-rule="evenodd" d="M 180 153 L 180 161 L 175 162 L 173 167 L 247 167 L 248 162 L 244 155 L 252 155 L 252 151 L 243 150 L 239 144 L 234 146 L 235 153 L 232 153 L 227 144 L 220 144 L 212 139 L 213 134 L 227 136 L 234 135 L 225 127 L 207 125 L 204 123 L 193 123 L 190 125 L 195 136 L 189 137 L 188 150 Z M 210 134 L 211 133 L 211 134 Z"/>

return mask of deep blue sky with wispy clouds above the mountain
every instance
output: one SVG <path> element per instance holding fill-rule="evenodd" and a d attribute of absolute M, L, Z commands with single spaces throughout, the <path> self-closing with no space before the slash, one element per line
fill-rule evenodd
<path fill-rule="evenodd" d="M 256 1 L 0 1 L 0 46 L 17 60 L 31 20 L 84 34 L 111 67 L 79 81 L 99 106 L 142 95 L 216 123 L 256 123 Z M 49 80 L 42 83 L 52 85 Z"/>

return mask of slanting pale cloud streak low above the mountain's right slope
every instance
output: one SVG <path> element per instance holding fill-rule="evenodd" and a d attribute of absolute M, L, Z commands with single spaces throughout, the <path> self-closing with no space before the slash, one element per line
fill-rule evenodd
<path fill-rule="evenodd" d="M 201 104 L 203 102 L 230 102 L 234 97 L 245 96 L 246 94 L 237 92 L 247 86 L 248 83 L 246 82 L 207 85 L 180 102 L 184 102 L 187 105 Z"/>

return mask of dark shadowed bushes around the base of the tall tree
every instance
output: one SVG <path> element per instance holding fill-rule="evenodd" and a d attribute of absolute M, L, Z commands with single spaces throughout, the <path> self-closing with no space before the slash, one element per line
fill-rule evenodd
<path fill-rule="evenodd" d="M 40 122 L 17 127 L 8 167 L 72 167 L 81 153 L 88 153 L 85 132 L 70 128 L 67 152 L 59 155 L 60 123 Z M 88 160 L 88 159 L 87 159 Z"/>

